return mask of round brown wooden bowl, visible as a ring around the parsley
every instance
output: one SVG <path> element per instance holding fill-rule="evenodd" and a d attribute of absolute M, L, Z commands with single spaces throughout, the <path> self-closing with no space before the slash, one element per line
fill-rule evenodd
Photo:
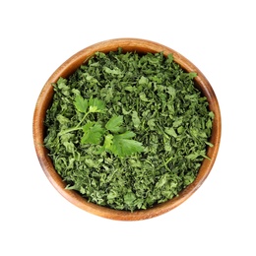
<path fill-rule="evenodd" d="M 49 107 L 53 96 L 53 88 L 51 84 L 56 83 L 59 77 L 66 78 L 74 73 L 75 70 L 78 69 L 80 65 L 85 61 L 85 59 L 94 55 L 96 51 L 102 51 L 106 53 L 109 51 L 115 51 L 118 47 L 122 47 L 125 51 L 136 50 L 140 53 L 155 53 L 160 51 L 162 51 L 164 55 L 172 53 L 174 61 L 178 63 L 184 70 L 186 70 L 187 72 L 196 72 L 198 74 L 198 76 L 195 78 L 197 87 L 204 96 L 207 96 L 210 110 L 215 113 L 212 136 L 210 139 L 210 142 L 215 146 L 213 148 L 209 147 L 207 152 L 207 155 L 211 158 L 211 160 L 203 160 L 195 181 L 188 185 L 184 190 L 182 190 L 179 193 L 178 197 L 170 199 L 165 203 L 156 205 L 148 210 L 139 210 L 133 213 L 98 206 L 94 203 L 88 202 L 78 192 L 65 189 L 66 184 L 62 181 L 62 178 L 55 171 L 52 161 L 48 157 L 48 152 L 43 147 L 45 129 L 43 122 L 46 114 L 46 109 Z M 111 220 L 139 221 L 160 216 L 174 209 L 185 200 L 187 200 L 202 185 L 202 183 L 210 173 L 218 155 L 221 140 L 221 112 L 218 99 L 210 83 L 202 74 L 202 72 L 184 56 L 174 51 L 173 49 L 154 41 L 138 38 L 117 38 L 98 42 L 77 52 L 68 60 L 66 60 L 59 68 L 56 69 L 56 71 L 47 80 L 41 90 L 40 95 L 38 96 L 33 114 L 32 132 L 34 147 L 40 165 L 51 184 L 63 197 L 65 197 L 68 201 L 70 201 L 77 207 L 89 213 L 95 214 L 96 216 Z"/>

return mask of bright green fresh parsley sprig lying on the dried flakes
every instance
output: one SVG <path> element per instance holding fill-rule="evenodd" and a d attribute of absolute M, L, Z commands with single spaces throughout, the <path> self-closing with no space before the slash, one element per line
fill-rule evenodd
<path fill-rule="evenodd" d="M 74 105 L 77 111 L 84 113 L 84 116 L 76 126 L 59 132 L 59 136 L 77 130 L 83 130 L 84 135 L 81 138 L 82 145 L 100 145 L 102 138 L 104 137 L 104 143 L 100 147 L 98 153 L 106 151 L 108 153 L 114 154 L 116 157 L 131 156 L 135 153 L 141 153 L 144 151 L 142 143 L 131 139 L 134 138 L 136 134 L 134 132 L 127 131 L 124 127 L 122 127 L 122 115 L 113 115 L 106 122 L 104 127 L 102 127 L 100 123 L 96 121 L 93 122 L 91 120 L 88 120 L 86 124 L 83 125 L 84 121 L 90 113 L 104 113 L 105 104 L 102 100 L 96 97 L 87 99 L 78 95 L 75 97 Z M 120 131 L 124 132 L 120 133 Z"/>

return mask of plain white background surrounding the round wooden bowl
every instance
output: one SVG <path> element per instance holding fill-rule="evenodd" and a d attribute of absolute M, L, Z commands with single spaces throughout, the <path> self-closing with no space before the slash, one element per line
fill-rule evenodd
<path fill-rule="evenodd" d="M 1 1 L 0 255 L 256 255 L 253 0 Z M 35 155 L 44 83 L 77 51 L 139 37 L 167 45 L 208 78 L 222 110 L 218 159 L 178 208 L 117 222 L 69 203 Z"/>

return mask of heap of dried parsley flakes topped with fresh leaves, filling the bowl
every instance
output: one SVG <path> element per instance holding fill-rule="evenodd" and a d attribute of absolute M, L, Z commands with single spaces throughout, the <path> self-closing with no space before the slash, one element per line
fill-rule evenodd
<path fill-rule="evenodd" d="M 66 188 L 127 211 L 177 196 L 213 147 L 214 113 L 195 77 L 171 54 L 119 48 L 59 78 L 44 143 Z"/>

